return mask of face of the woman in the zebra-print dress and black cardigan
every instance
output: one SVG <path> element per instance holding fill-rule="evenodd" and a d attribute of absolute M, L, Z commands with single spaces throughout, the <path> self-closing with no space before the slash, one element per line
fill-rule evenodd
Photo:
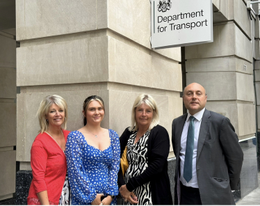
<path fill-rule="evenodd" d="M 143 103 L 140 104 L 140 106 L 136 107 L 136 122 L 138 125 L 138 128 L 146 128 L 149 127 L 149 125 L 152 122 L 152 116 L 154 111 L 150 106 Z"/>

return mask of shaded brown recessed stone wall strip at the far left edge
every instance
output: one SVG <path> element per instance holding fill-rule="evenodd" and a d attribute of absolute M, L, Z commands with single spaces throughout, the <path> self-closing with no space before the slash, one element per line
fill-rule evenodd
<path fill-rule="evenodd" d="M 16 61 L 15 37 L 0 31 L 0 200 L 15 192 Z"/>

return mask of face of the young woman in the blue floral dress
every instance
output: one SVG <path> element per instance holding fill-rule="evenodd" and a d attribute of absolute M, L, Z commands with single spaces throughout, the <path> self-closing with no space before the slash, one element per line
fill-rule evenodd
<path fill-rule="evenodd" d="M 104 108 L 103 106 L 96 100 L 93 100 L 88 104 L 88 109 L 83 111 L 88 123 L 100 123 L 104 118 Z"/>

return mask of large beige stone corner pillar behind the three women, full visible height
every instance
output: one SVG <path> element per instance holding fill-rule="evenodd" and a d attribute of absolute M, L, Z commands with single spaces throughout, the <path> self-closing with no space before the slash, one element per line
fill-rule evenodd
<path fill-rule="evenodd" d="M 17 161 L 28 169 L 35 117 L 46 95 L 68 104 L 67 129 L 82 127 L 89 95 L 104 98 L 102 126 L 122 134 L 141 93 L 159 105 L 161 125 L 182 114 L 181 50 L 151 49 L 149 1 L 17 1 Z M 171 149 L 172 150 L 172 149 Z M 172 154 L 170 154 L 172 155 Z"/>

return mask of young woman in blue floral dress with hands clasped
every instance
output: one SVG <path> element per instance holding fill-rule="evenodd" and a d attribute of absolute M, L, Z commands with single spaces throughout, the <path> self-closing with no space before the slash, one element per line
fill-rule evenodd
<path fill-rule="evenodd" d="M 72 205 L 116 205 L 120 142 L 115 131 L 100 127 L 104 113 L 101 97 L 88 97 L 83 104 L 84 127 L 67 136 Z"/>

